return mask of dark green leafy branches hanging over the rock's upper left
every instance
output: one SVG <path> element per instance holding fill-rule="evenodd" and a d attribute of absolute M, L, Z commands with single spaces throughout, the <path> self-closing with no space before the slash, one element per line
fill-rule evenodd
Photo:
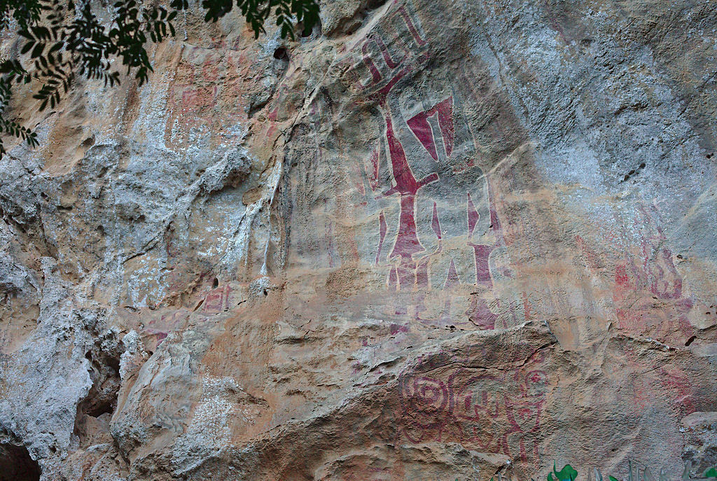
<path fill-rule="evenodd" d="M 174 37 L 174 21 L 179 11 L 189 9 L 188 0 L 171 0 L 168 7 L 143 6 L 138 0 L 116 0 L 107 7 L 111 21 L 98 17 L 91 0 L 0 0 L 0 32 L 16 29 L 24 43 L 21 55 L 29 54 L 32 69 L 19 59 L 0 59 L 0 135 L 22 138 L 37 145 L 37 135 L 16 120 L 6 118 L 12 87 L 37 80 L 33 95 L 39 110 L 56 107 L 79 75 L 102 80 L 112 87 L 120 82 L 113 59 L 120 59 L 126 72 L 139 85 L 148 80 L 152 65 L 148 44 Z M 202 0 L 206 22 L 217 22 L 232 11 L 234 3 L 250 24 L 255 38 L 265 33 L 264 24 L 276 17 L 282 38 L 293 38 L 296 24 L 305 33 L 318 22 L 318 0 Z M 29 73 L 32 71 L 32 75 Z M 0 156 L 5 149 L 0 138 Z"/>

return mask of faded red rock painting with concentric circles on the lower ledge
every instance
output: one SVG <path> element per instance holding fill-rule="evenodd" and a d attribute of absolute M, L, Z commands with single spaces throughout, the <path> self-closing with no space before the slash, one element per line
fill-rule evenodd
<path fill-rule="evenodd" d="M 399 378 L 401 436 L 408 442 L 458 442 L 513 459 L 538 459 L 548 374 L 537 351 L 516 368 L 489 370 L 446 361 L 431 372 Z"/>

